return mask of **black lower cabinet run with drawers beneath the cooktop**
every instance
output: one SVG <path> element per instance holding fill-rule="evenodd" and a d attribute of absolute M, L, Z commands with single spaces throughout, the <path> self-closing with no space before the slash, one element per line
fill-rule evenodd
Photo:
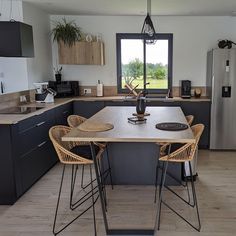
<path fill-rule="evenodd" d="M 58 161 L 48 131 L 54 109 L 12 125 L 0 125 L 0 204 L 14 204 Z"/>

